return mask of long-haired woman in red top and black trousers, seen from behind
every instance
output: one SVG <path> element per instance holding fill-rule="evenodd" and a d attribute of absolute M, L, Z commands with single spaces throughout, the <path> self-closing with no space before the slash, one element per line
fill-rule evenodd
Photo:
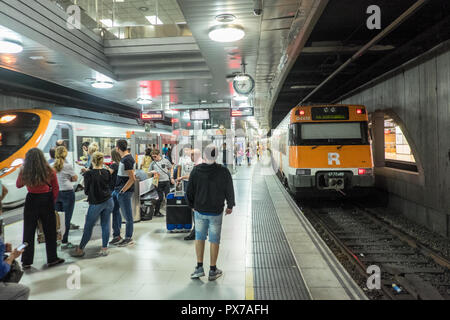
<path fill-rule="evenodd" d="M 55 202 L 59 192 L 58 179 L 41 150 L 33 148 L 27 152 L 16 186 L 26 186 L 28 190 L 23 212 L 23 242 L 28 243 L 28 247 L 22 255 L 22 267 L 29 269 L 33 264 L 38 219 L 44 229 L 47 266 L 64 263 L 64 259 L 58 258 L 56 253 Z"/>

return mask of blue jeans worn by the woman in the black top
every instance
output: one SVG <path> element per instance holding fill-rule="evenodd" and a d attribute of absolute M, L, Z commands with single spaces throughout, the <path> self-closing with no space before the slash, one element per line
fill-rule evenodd
<path fill-rule="evenodd" d="M 114 201 L 109 198 L 100 204 L 89 205 L 88 213 L 86 215 L 86 222 L 84 224 L 83 237 L 80 242 L 80 249 L 83 250 L 89 240 L 91 240 L 92 230 L 94 225 L 100 217 L 100 224 L 102 226 L 102 247 L 108 248 L 109 241 L 109 221 L 111 218 L 111 211 L 114 207 Z"/>

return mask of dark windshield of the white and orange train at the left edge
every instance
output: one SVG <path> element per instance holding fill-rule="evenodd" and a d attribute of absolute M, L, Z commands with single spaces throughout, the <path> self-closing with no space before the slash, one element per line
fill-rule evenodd
<path fill-rule="evenodd" d="M 38 115 L 26 112 L 0 114 L 0 162 L 22 148 L 39 127 Z"/>

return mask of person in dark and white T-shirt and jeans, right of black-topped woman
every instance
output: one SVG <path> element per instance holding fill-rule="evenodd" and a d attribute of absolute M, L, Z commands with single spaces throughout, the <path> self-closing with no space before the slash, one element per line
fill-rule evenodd
<path fill-rule="evenodd" d="M 126 220 L 125 239 L 120 236 L 120 227 L 118 224 L 119 207 L 115 207 L 113 211 L 113 218 L 116 222 L 114 229 L 114 239 L 110 244 L 120 247 L 125 247 L 134 243 L 133 241 L 133 210 L 131 208 L 131 198 L 134 193 L 134 182 L 136 177 L 134 175 L 135 161 L 128 151 L 128 143 L 126 140 L 118 140 L 116 143 L 116 151 L 120 154 L 121 160 L 119 169 L 117 171 L 116 185 L 114 188 L 113 198 L 117 199 L 117 203 L 122 211 L 123 218 Z"/>

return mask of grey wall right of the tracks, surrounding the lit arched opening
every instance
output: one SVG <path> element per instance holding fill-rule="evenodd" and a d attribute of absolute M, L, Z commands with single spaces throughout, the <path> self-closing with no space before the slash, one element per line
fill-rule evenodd
<path fill-rule="evenodd" d="M 396 115 L 412 144 L 419 173 L 383 163 L 375 169 L 377 186 L 389 192 L 389 206 L 446 237 L 450 237 L 449 91 L 450 45 L 444 43 L 341 101 L 366 105 L 375 114 Z"/>

